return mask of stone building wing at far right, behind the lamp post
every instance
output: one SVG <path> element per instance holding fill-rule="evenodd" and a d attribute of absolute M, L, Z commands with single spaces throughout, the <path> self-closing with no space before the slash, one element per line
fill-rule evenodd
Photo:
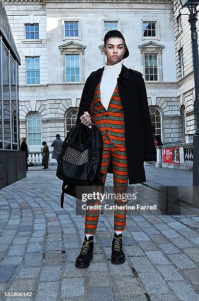
<path fill-rule="evenodd" d="M 179 106 L 179 137 L 193 142 L 196 131 L 194 69 L 188 8 L 180 11 L 179 0 L 172 0 L 176 60 L 177 101 Z M 181 16 L 180 16 L 181 13 Z M 199 29 L 199 22 L 197 21 Z"/>

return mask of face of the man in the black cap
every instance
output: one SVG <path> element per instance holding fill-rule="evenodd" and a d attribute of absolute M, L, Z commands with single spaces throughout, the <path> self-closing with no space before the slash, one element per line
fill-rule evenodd
<path fill-rule="evenodd" d="M 107 64 L 114 65 L 121 61 L 124 56 L 124 40 L 122 38 L 110 37 L 106 40 L 106 46 L 104 47 Z"/>

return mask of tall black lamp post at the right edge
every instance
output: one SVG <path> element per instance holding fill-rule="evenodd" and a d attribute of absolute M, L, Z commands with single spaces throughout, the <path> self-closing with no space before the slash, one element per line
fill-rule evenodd
<path fill-rule="evenodd" d="M 198 34 L 196 28 L 197 19 L 197 0 L 180 0 L 183 7 L 189 9 L 189 23 L 191 25 L 192 38 L 192 52 L 194 64 L 194 84 L 195 84 L 195 98 L 196 98 L 196 124 L 197 129 L 194 135 L 194 160 L 193 160 L 193 205 L 199 208 L 199 49 L 198 49 Z"/>

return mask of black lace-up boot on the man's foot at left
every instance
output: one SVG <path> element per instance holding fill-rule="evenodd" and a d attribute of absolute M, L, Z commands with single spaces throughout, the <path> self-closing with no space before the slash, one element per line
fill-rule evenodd
<path fill-rule="evenodd" d="M 79 256 L 76 259 L 75 267 L 79 269 L 86 269 L 90 266 L 91 260 L 93 259 L 93 244 L 94 244 L 94 235 L 84 237 L 83 245 L 80 251 Z"/>

